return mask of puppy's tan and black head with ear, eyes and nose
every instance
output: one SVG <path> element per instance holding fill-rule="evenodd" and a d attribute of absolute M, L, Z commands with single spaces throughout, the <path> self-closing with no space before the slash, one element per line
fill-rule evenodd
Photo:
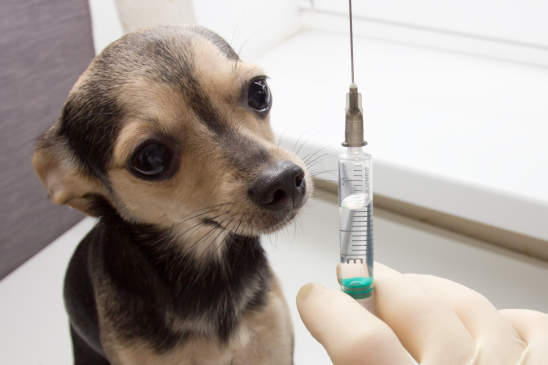
<path fill-rule="evenodd" d="M 312 185 L 274 141 L 266 79 L 204 28 L 128 34 L 76 82 L 35 169 L 54 202 L 87 214 L 101 200 L 175 235 L 276 230 Z"/>

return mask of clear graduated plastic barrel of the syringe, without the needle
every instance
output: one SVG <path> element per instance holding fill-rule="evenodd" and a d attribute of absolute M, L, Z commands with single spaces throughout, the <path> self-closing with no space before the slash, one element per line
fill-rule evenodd
<path fill-rule="evenodd" d="M 361 147 L 339 156 L 339 220 L 341 263 L 366 265 L 372 276 L 372 158 Z"/>

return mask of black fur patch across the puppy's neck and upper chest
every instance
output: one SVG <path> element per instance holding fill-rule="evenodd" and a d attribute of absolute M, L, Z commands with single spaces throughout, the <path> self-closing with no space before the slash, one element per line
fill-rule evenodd
<path fill-rule="evenodd" d="M 265 304 L 272 273 L 256 237 L 229 235 L 220 260 L 200 262 L 153 227 L 115 215 L 103 217 L 90 236 L 97 290 L 108 293 L 100 305 L 128 341 L 142 339 L 163 352 L 204 336 L 175 332 L 165 317 L 173 313 L 182 321 L 206 319 L 214 329 L 209 336 L 226 342 L 246 311 Z"/>

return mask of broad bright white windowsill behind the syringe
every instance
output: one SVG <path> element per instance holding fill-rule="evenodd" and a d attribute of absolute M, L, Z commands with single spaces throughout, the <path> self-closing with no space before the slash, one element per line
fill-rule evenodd
<path fill-rule="evenodd" d="M 365 37 L 355 55 L 375 192 L 548 240 L 547 69 Z M 282 144 L 324 148 L 314 170 L 336 169 L 347 36 L 303 29 L 256 63 Z"/>

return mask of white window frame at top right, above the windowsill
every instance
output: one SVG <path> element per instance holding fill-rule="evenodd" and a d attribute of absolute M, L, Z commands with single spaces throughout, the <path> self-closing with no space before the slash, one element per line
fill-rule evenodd
<path fill-rule="evenodd" d="M 443 11 L 440 5 L 434 9 L 434 3 L 439 2 L 417 0 L 411 6 L 405 0 L 354 1 L 354 32 L 357 36 L 548 67 L 548 22 L 541 22 L 539 15 L 548 14 L 548 2 L 463 0 L 443 4 L 449 7 Z M 519 19 L 512 13 L 518 5 L 522 9 Z M 299 6 L 304 27 L 348 31 L 348 2 L 307 0 Z M 398 10 L 391 15 L 389 8 Z M 490 11 L 492 8 L 498 11 Z M 484 16 L 468 21 L 466 12 Z M 524 17 L 532 24 L 520 28 Z"/>

